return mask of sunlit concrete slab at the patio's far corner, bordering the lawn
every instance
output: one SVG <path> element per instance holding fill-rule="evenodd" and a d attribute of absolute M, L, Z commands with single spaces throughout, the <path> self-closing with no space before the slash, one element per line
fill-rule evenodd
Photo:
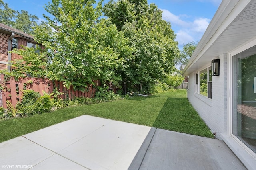
<path fill-rule="evenodd" d="M 47 149 L 58 152 L 111 121 L 99 117 L 80 116 L 23 136 Z"/>

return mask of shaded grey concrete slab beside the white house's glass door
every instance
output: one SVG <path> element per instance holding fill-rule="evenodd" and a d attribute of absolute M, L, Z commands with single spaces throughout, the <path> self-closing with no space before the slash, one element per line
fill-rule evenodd
<path fill-rule="evenodd" d="M 223 141 L 156 129 L 140 170 L 246 170 Z"/>

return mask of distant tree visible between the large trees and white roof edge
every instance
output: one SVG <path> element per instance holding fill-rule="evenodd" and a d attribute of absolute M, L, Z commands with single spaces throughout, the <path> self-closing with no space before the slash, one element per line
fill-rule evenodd
<path fill-rule="evenodd" d="M 175 64 L 176 65 L 181 65 L 181 64 L 187 64 L 188 60 L 192 56 L 194 50 L 196 49 L 198 42 L 192 41 L 190 43 L 187 43 L 186 45 L 183 45 L 183 49 L 180 52 L 180 56 L 178 56 L 175 59 Z"/>

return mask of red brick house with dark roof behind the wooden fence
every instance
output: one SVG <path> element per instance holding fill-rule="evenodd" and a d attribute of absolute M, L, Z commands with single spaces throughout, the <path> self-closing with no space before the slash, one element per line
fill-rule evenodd
<path fill-rule="evenodd" d="M 36 42 L 32 35 L 0 23 L 0 70 L 10 71 L 11 67 L 7 64 L 14 59 L 22 58 L 17 54 L 8 53 L 14 48 L 21 49 L 21 45 L 35 47 Z"/>

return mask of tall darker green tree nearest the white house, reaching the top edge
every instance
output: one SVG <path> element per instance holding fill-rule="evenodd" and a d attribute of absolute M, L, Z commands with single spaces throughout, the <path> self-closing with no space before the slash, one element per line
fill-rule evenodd
<path fill-rule="evenodd" d="M 122 81 L 129 82 L 128 90 L 148 92 L 157 79 L 173 71 L 173 59 L 180 53 L 170 23 L 162 20 L 162 11 L 146 0 L 111 0 L 103 12 L 118 25 L 134 50 L 132 55 L 122 56 L 125 63 L 118 70 Z"/>

